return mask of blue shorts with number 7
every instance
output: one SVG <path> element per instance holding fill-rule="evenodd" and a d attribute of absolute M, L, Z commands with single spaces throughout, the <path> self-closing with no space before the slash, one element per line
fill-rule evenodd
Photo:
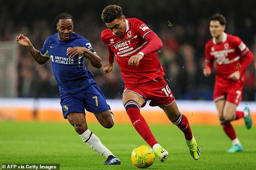
<path fill-rule="evenodd" d="M 65 119 L 69 113 L 85 113 L 84 109 L 94 114 L 109 110 L 106 98 L 97 84 L 91 84 L 76 94 L 61 93 L 60 99 Z"/>

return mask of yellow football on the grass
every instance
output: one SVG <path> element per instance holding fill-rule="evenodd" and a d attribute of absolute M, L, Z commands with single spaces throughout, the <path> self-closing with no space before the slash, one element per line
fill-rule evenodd
<path fill-rule="evenodd" d="M 147 145 L 139 145 L 132 150 L 132 164 L 138 168 L 148 168 L 155 161 L 155 153 Z"/>

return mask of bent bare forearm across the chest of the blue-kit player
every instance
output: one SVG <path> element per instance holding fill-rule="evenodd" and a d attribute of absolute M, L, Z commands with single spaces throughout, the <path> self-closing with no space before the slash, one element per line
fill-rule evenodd
<path fill-rule="evenodd" d="M 69 58 L 73 58 L 79 54 L 84 54 L 93 67 L 101 68 L 101 57 L 99 57 L 99 55 L 97 55 L 96 53 L 92 53 L 92 51 L 88 50 L 86 47 L 73 47 L 69 49 L 69 51 L 67 51 L 67 55 L 69 55 Z"/>

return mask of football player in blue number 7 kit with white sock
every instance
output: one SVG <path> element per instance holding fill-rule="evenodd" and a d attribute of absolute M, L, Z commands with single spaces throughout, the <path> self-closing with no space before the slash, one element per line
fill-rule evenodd
<path fill-rule="evenodd" d="M 87 39 L 73 32 L 75 21 L 70 14 L 59 14 L 50 30 L 55 28 L 58 33 L 46 39 L 41 51 L 35 49 L 22 34 L 17 35 L 16 41 L 25 46 L 39 64 L 51 60 L 52 72 L 59 85 L 64 118 L 68 119 L 92 150 L 107 158 L 105 165 L 120 164 L 120 160 L 101 143 L 99 137 L 86 124 L 85 109 L 94 113 L 103 127 L 111 128 L 114 125 L 113 113 L 105 96 L 92 79 L 93 74 L 84 67 L 86 57 L 93 67 L 101 68 L 101 58 Z"/>

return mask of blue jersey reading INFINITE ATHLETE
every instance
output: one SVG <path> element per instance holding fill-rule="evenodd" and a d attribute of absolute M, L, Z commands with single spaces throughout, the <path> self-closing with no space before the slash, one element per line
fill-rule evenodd
<path fill-rule="evenodd" d="M 93 74 L 84 67 L 84 54 L 69 58 L 67 50 L 72 47 L 92 49 L 90 42 L 73 33 L 68 41 L 60 41 L 58 33 L 48 37 L 40 53 L 51 60 L 52 72 L 60 92 L 75 94 L 95 83 Z M 95 52 L 94 52 L 95 53 Z"/>

